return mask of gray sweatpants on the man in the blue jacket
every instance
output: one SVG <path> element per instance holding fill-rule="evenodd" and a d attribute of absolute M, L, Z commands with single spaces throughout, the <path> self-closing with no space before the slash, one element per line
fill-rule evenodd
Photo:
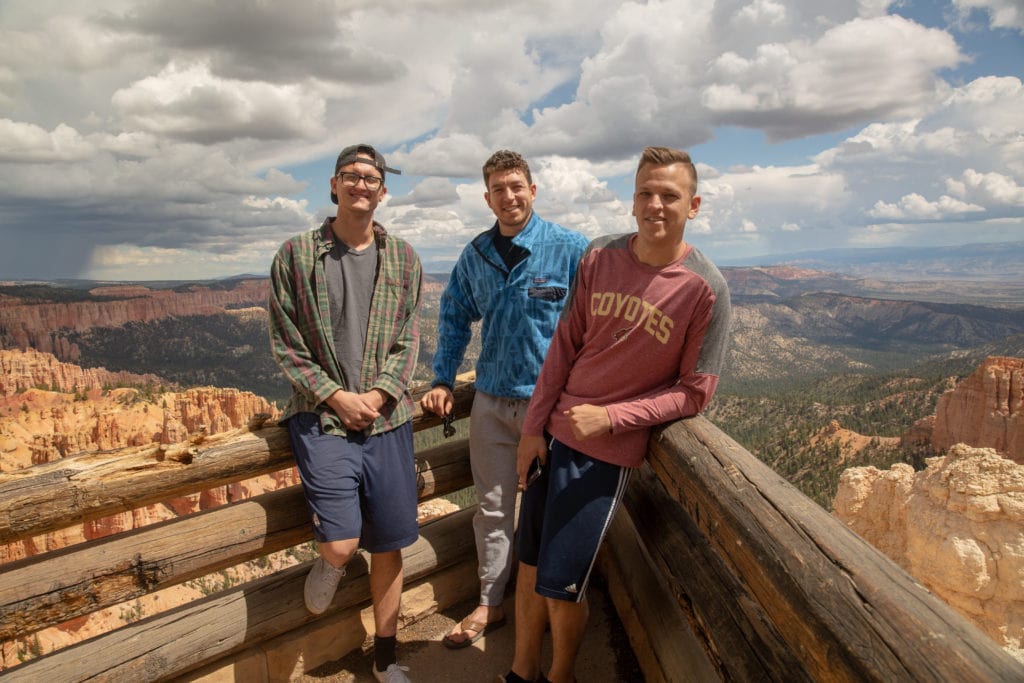
<path fill-rule="evenodd" d="M 477 391 L 469 425 L 469 462 L 476 486 L 480 604 L 500 605 L 512 570 L 512 536 L 518 493 L 515 454 L 528 398 L 500 398 Z"/>

